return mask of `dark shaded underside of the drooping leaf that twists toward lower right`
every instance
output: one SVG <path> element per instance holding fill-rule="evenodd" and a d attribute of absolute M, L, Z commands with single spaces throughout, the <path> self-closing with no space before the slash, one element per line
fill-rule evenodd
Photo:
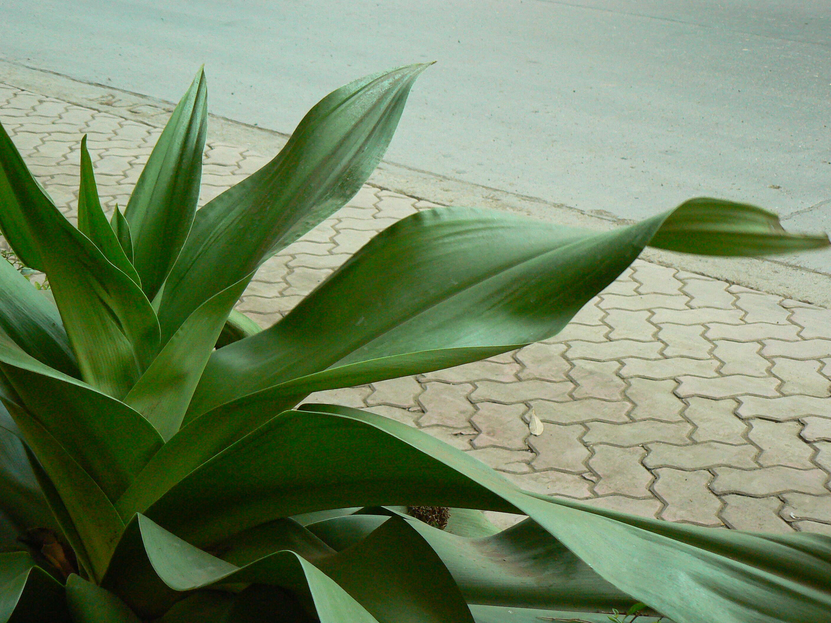
<path fill-rule="evenodd" d="M 332 440 L 324 451 L 322 435 Z M 275 518 L 353 506 L 356 498 L 364 506 L 429 505 L 446 493 L 456 502 L 447 506 L 476 500 L 515 512 L 470 478 L 426 455 L 401 454 L 388 439 L 355 419 L 288 411 L 184 474 L 175 455 L 151 462 L 116 507 L 124 518 L 145 513 L 197 547 Z M 392 481 L 411 490 L 391 488 Z"/>

